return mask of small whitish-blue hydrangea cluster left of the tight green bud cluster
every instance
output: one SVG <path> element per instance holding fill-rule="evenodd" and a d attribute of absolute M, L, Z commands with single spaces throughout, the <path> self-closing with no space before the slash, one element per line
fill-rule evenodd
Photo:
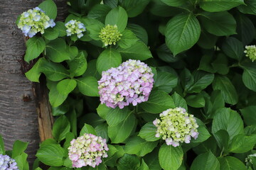
<path fill-rule="evenodd" d="M 77 34 L 78 38 L 83 36 L 82 32 L 85 32 L 86 28 L 83 23 L 76 20 L 70 20 L 68 23 L 65 23 L 65 27 L 67 28 L 67 35 Z"/>

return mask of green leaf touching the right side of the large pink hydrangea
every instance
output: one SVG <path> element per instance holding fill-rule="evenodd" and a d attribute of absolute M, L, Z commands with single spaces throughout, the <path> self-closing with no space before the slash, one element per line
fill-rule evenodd
<path fill-rule="evenodd" d="M 170 93 L 174 87 L 178 84 L 178 77 L 169 72 L 157 72 L 157 77 L 154 82 L 154 86 L 161 91 Z"/>

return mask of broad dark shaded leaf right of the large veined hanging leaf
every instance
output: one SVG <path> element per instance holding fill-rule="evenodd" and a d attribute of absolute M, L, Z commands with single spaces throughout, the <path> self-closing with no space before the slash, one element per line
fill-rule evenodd
<path fill-rule="evenodd" d="M 200 19 L 202 26 L 213 35 L 223 36 L 236 33 L 235 18 L 228 11 L 218 13 L 203 12 Z"/>

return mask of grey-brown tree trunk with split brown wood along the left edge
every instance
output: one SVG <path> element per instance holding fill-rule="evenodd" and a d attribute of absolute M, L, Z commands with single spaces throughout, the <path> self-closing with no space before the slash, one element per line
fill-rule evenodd
<path fill-rule="evenodd" d="M 58 6 L 57 19 L 63 20 L 68 11 L 66 2 L 65 0 L 55 0 L 55 2 Z M 12 149 L 15 140 L 29 142 L 26 153 L 30 164 L 35 159 L 40 141 L 38 121 L 41 127 L 44 126 L 43 129 L 48 131 L 43 133 L 49 134 L 53 120 L 50 117 L 42 118 L 43 113 L 50 115 L 45 84 L 32 84 L 21 74 L 21 60 L 26 46 L 21 30 L 17 28 L 15 22 L 19 14 L 40 3 L 41 0 L 14 0 L 0 3 L 0 134 L 4 138 L 6 149 Z M 43 125 L 44 122 L 47 122 L 47 125 Z M 50 136 L 44 135 L 41 140 L 48 137 Z"/>

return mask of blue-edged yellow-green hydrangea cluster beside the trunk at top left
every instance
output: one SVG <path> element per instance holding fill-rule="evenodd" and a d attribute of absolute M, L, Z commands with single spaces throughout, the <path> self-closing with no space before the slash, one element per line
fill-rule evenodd
<path fill-rule="evenodd" d="M 50 19 L 41 8 L 29 9 L 21 14 L 21 18 L 18 21 L 18 28 L 22 30 L 25 36 L 32 38 L 36 33 L 44 33 L 46 28 L 53 28 L 55 23 L 53 19 Z"/>

